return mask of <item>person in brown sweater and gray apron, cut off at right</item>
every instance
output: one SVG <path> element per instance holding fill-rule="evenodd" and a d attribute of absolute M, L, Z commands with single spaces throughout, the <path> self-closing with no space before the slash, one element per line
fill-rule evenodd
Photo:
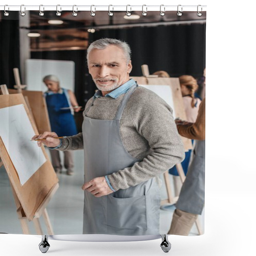
<path fill-rule="evenodd" d="M 199 106 L 195 123 L 176 121 L 176 125 L 181 136 L 196 140 L 196 146 L 168 234 L 188 236 L 204 207 L 205 98 Z"/>

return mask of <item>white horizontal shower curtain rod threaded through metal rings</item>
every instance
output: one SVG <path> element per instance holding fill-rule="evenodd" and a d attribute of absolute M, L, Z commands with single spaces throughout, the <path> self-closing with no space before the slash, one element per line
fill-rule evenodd
<path fill-rule="evenodd" d="M 4 9 L 5 6 L 5 9 Z M 76 7 L 75 7 L 76 6 Z M 179 8 L 180 12 L 188 12 L 188 11 L 199 11 L 199 12 L 205 12 L 206 11 L 206 5 L 161 5 L 161 11 L 177 11 Z M 40 11 L 56 11 L 58 9 L 59 12 L 61 11 L 73 11 L 73 5 L 41 5 Z M 0 5 L 1 11 L 39 11 L 39 5 Z M 144 12 L 149 11 L 160 11 L 160 5 L 144 5 L 143 6 Z M 142 11 L 142 5 L 74 5 L 74 11 Z"/>

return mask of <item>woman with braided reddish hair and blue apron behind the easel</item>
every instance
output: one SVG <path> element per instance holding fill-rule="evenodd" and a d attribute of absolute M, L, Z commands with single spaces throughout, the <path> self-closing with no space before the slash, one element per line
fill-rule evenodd
<path fill-rule="evenodd" d="M 195 92 L 198 89 L 198 84 L 196 82 L 196 79 L 193 76 L 189 76 L 189 75 L 180 76 L 179 80 L 180 80 L 180 89 L 182 93 L 183 104 L 184 104 L 185 112 L 187 116 L 186 121 L 189 123 L 195 123 L 196 117 L 198 114 L 199 105 L 201 103 L 201 100 L 195 96 Z M 192 140 L 192 143 L 193 142 L 194 141 Z M 191 149 L 188 150 L 188 152 L 185 152 L 185 159 L 181 163 L 185 175 L 188 172 L 190 155 L 191 155 Z M 182 183 L 181 183 L 178 171 L 176 169 L 176 166 L 173 166 L 169 170 L 169 173 L 173 175 L 175 196 L 178 196 L 180 194 Z"/>

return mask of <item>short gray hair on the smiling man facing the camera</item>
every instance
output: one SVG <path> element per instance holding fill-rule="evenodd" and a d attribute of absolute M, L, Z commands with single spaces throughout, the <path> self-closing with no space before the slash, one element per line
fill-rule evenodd
<path fill-rule="evenodd" d="M 106 49 L 111 44 L 116 45 L 117 47 L 119 47 L 120 49 L 122 49 L 124 51 L 124 56 L 125 56 L 126 62 L 128 64 L 129 61 L 131 60 L 131 48 L 130 48 L 129 44 L 127 44 L 126 42 L 123 42 L 121 40 L 113 39 L 113 38 L 101 38 L 99 40 L 92 42 L 92 44 L 90 44 L 90 46 L 87 49 L 87 55 L 86 55 L 87 63 L 88 63 L 89 54 L 93 48 L 102 50 L 102 49 Z"/>

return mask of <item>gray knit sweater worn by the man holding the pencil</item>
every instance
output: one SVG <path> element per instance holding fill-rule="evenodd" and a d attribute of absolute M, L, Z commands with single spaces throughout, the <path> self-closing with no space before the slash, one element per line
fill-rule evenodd
<path fill-rule="evenodd" d="M 94 119 L 113 120 L 125 94 L 117 99 L 96 98 L 87 116 Z M 91 105 L 88 100 L 85 110 Z M 127 101 L 120 120 L 120 134 L 128 153 L 137 158 L 132 167 L 124 168 L 108 175 L 115 190 L 135 186 L 164 173 L 185 157 L 183 143 L 177 132 L 172 116 L 172 108 L 156 93 L 137 87 Z M 106 134 L 106 136 L 108 136 Z M 58 150 L 83 149 L 83 133 L 62 139 Z"/>

